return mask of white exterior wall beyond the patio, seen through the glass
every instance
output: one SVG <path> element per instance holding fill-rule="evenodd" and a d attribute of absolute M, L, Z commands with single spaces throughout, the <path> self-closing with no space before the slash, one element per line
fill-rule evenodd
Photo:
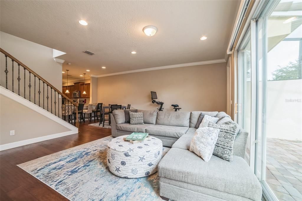
<path fill-rule="evenodd" d="M 301 86 L 301 79 L 267 82 L 267 138 L 302 140 Z"/>

